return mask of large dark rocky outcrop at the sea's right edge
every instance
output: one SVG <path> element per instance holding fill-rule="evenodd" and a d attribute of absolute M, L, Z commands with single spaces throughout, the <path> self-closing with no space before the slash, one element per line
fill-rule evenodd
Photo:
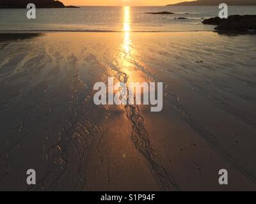
<path fill-rule="evenodd" d="M 256 15 L 230 15 L 227 19 L 219 17 L 205 19 L 203 24 L 218 25 L 218 31 L 248 31 L 256 30 Z"/>

